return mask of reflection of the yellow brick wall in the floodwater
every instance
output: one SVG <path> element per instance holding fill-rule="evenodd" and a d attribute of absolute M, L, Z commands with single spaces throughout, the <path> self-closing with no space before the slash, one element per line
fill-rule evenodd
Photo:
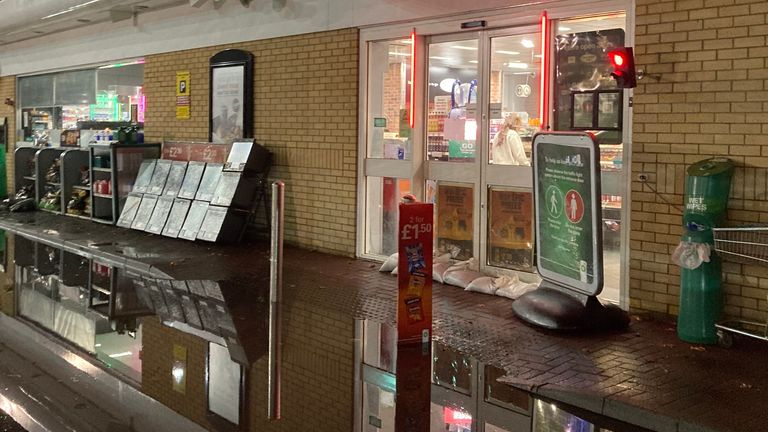
<path fill-rule="evenodd" d="M 282 419 L 267 419 L 268 359 L 264 355 L 246 370 L 250 418 L 242 420 L 247 424 L 242 430 L 352 430 L 353 319 L 302 301 L 288 301 L 283 313 Z M 261 337 L 266 344 L 267 335 Z M 147 317 L 142 320 L 142 343 L 141 390 L 208 430 L 216 430 L 206 418 L 207 342 Z M 187 348 L 184 394 L 172 386 L 174 344 Z"/>

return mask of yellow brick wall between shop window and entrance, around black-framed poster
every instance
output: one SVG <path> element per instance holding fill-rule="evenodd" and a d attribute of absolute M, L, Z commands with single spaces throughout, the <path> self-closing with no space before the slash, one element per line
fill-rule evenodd
<path fill-rule="evenodd" d="M 253 53 L 254 133 L 286 182 L 287 242 L 353 256 L 357 178 L 358 32 L 312 33 L 146 58 L 148 140 L 208 139 L 208 59 Z M 191 73 L 191 118 L 175 116 L 177 71 Z"/>

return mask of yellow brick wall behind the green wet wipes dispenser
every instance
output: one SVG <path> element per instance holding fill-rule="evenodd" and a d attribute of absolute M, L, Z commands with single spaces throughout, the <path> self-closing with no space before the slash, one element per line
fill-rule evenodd
<path fill-rule="evenodd" d="M 768 223 L 768 2 L 637 0 L 631 306 L 676 314 L 686 167 L 736 163 L 729 224 Z M 650 186 L 637 181 L 648 173 Z M 765 321 L 768 269 L 724 262 L 725 313 Z"/>

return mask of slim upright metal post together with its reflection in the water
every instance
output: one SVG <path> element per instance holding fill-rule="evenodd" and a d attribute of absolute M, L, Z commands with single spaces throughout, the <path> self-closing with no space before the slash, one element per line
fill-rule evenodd
<path fill-rule="evenodd" d="M 267 415 L 280 419 L 280 302 L 283 292 L 283 219 L 285 183 L 272 183 L 272 232 L 269 268 L 269 377 L 267 378 Z"/>

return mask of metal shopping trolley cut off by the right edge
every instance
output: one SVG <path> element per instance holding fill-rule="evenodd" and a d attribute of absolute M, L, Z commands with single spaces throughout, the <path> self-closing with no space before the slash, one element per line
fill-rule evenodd
<path fill-rule="evenodd" d="M 713 228 L 715 250 L 728 261 L 768 266 L 768 227 Z M 766 296 L 768 301 L 768 296 Z M 768 341 L 768 312 L 764 323 L 730 320 L 715 324 L 718 343 L 728 347 L 733 334 Z"/>

